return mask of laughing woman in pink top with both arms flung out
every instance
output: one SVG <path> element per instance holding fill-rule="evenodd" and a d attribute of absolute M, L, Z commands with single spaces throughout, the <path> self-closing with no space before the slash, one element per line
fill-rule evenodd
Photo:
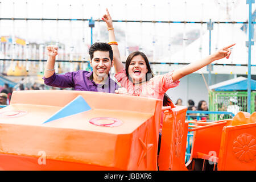
<path fill-rule="evenodd" d="M 159 98 L 163 100 L 164 105 L 167 105 L 164 100 L 164 94 L 168 89 L 179 85 L 180 78 L 205 67 L 215 60 L 224 57 L 228 59 L 231 53 L 229 48 L 234 46 L 234 44 L 232 44 L 224 47 L 202 60 L 193 62 L 183 68 L 176 69 L 164 75 L 154 77 L 147 56 L 139 51 L 131 53 L 127 57 L 125 68 L 123 67 L 117 42 L 115 42 L 112 18 L 108 9 L 106 9 L 106 14 L 102 16 L 102 20 L 106 22 L 109 31 L 109 44 L 113 49 L 114 68 L 117 72 L 115 78 L 117 78 L 117 81 L 127 89 L 129 95 Z M 115 93 L 121 92 L 117 90 Z"/>

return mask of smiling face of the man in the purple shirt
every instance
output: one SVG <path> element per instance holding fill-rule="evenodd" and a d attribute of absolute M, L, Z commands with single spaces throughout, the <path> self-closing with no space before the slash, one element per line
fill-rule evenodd
<path fill-rule="evenodd" d="M 93 76 L 105 77 L 108 75 L 110 68 L 113 67 L 109 51 L 95 51 L 93 59 L 90 60 L 90 65 L 93 68 Z"/>

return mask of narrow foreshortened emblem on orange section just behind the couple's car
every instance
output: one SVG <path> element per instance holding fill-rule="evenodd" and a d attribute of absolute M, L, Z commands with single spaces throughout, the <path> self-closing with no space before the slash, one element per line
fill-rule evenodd
<path fill-rule="evenodd" d="M 177 122 L 176 129 L 175 129 L 175 155 L 177 157 L 179 157 L 181 153 L 182 138 L 183 138 L 183 126 L 181 121 L 179 120 Z"/>

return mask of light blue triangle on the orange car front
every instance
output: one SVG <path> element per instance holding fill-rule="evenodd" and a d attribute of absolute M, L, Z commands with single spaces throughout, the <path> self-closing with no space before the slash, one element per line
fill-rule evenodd
<path fill-rule="evenodd" d="M 51 118 L 47 119 L 47 121 L 43 123 L 64 118 L 69 115 L 82 113 L 90 109 L 92 108 L 90 108 L 90 106 L 87 104 L 84 98 L 82 98 L 82 96 L 78 96 L 73 101 L 69 102 L 69 104 L 65 105 L 61 110 L 57 111 L 57 113 L 53 114 Z"/>

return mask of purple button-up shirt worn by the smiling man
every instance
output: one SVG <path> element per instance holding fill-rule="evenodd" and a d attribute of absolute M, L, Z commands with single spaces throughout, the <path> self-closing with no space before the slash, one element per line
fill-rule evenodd
<path fill-rule="evenodd" d="M 44 84 L 59 88 L 74 88 L 74 90 L 108 92 L 114 93 L 119 88 L 118 84 L 108 76 L 104 84 L 96 84 L 93 81 L 93 72 L 79 70 L 76 72 L 67 72 L 64 75 L 43 77 Z"/>

